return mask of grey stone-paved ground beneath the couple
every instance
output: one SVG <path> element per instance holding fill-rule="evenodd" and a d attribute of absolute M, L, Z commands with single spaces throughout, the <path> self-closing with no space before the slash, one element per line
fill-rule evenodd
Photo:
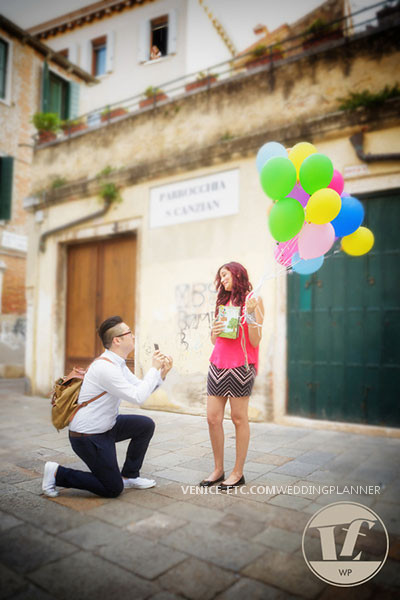
<path fill-rule="evenodd" d="M 123 408 L 156 422 L 141 474 L 157 487 L 117 499 L 64 489 L 49 499 L 41 495 L 46 460 L 84 468 L 66 431 L 53 429 L 49 400 L 24 396 L 21 381 L 2 380 L 0 411 L 0 599 L 400 597 L 400 439 L 254 423 L 247 486 L 201 495 L 187 486 L 212 468 L 205 418 Z M 235 441 L 232 423 L 224 427 L 228 471 Z M 126 445 L 118 444 L 120 460 Z M 285 484 L 299 493 L 263 492 Z M 380 485 L 380 493 L 318 490 L 367 484 Z M 253 485 L 258 493 L 250 493 Z M 310 517 L 342 500 L 371 507 L 389 531 L 385 565 L 357 587 L 324 583 L 302 554 Z"/>

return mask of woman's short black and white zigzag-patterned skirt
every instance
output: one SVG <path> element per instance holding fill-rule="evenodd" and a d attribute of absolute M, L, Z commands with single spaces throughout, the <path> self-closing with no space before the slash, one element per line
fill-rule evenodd
<path fill-rule="evenodd" d="M 233 369 L 218 369 L 210 363 L 207 377 L 207 395 L 243 398 L 250 396 L 256 378 L 256 368 L 249 365 Z"/>

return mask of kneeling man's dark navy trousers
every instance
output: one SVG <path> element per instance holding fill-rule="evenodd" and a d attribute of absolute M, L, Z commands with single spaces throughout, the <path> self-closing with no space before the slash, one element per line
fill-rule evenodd
<path fill-rule="evenodd" d="M 72 449 L 90 469 L 78 471 L 61 465 L 57 469 L 56 485 L 78 490 L 88 490 L 115 498 L 124 489 L 122 476 L 138 477 L 147 447 L 153 436 L 155 423 L 142 415 L 118 415 L 114 427 L 105 433 L 71 437 Z M 120 471 L 115 444 L 131 439 L 126 459 Z"/>

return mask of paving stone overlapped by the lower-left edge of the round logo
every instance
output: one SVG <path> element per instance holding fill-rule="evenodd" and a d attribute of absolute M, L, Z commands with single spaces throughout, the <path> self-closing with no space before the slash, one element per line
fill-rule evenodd
<path fill-rule="evenodd" d="M 311 573 L 304 558 L 272 548 L 243 569 L 242 574 L 305 598 L 316 598 L 325 587 Z"/>

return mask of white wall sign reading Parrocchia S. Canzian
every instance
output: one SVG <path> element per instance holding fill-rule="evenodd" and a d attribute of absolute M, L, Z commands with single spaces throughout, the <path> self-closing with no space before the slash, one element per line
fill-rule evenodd
<path fill-rule="evenodd" d="M 216 219 L 239 212 L 239 169 L 176 181 L 150 190 L 150 228 Z"/>

